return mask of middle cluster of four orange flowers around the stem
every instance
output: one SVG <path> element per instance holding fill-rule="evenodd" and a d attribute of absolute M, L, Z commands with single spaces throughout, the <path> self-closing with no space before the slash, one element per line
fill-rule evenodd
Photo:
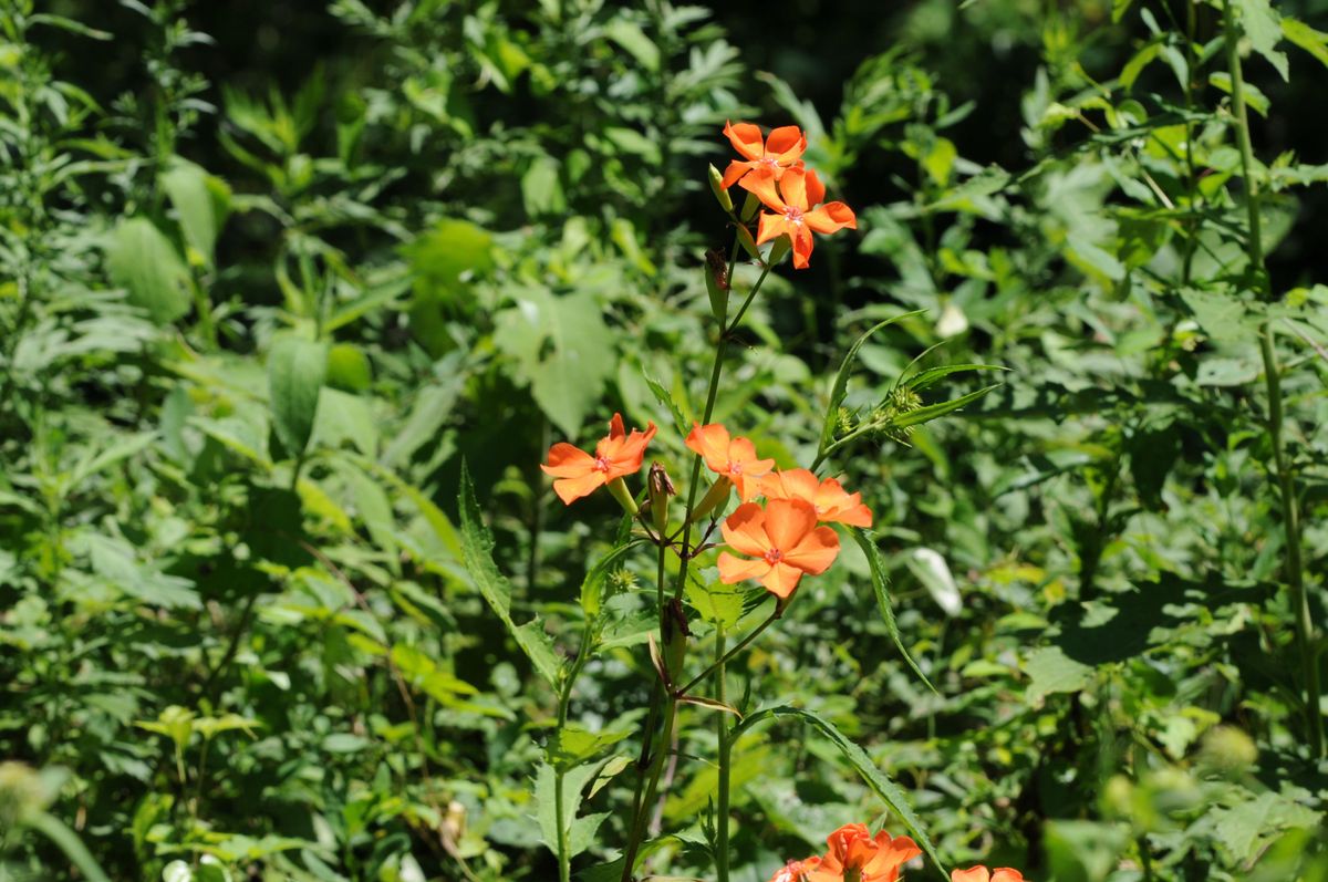
<path fill-rule="evenodd" d="M 640 470 L 655 432 L 651 422 L 645 432 L 633 429 L 628 434 L 622 414 L 615 413 L 594 456 L 559 442 L 550 448 L 548 462 L 540 468 L 554 476 L 554 491 L 564 503 L 608 486 L 636 514 L 622 480 Z M 732 550 L 718 557 L 720 580 L 726 584 L 754 579 L 786 602 L 803 575 L 825 573 L 838 557 L 839 537 L 826 525 L 871 526 L 871 509 L 862 503 L 861 493 L 850 494 L 834 478 L 822 481 L 807 469 L 777 470 L 774 460 L 757 456 L 749 438 L 733 437 L 717 422 L 693 425 L 687 446 L 717 476 L 692 511 L 692 522 L 721 507 L 734 490 L 741 502 L 720 527 Z M 663 477 L 656 481 L 667 481 L 659 470 Z M 672 490 L 672 482 L 668 487 Z M 663 494 L 651 495 L 656 499 Z M 760 497 L 765 498 L 764 506 L 756 501 Z M 664 531 L 664 519 L 655 525 Z"/>

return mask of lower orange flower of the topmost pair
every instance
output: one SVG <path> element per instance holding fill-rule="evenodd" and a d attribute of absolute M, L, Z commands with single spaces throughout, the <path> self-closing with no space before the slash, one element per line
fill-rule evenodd
<path fill-rule="evenodd" d="M 780 182 L 778 187 L 776 181 Z M 810 169 L 788 169 L 778 177 L 770 169 L 758 169 L 745 175 L 741 185 L 744 190 L 754 193 L 765 207 L 774 211 L 774 214 L 761 213 L 756 243 L 765 244 L 770 239 L 788 235 L 793 244 L 795 270 L 807 267 L 813 232 L 858 228 L 858 218 L 854 217 L 853 209 L 842 202 L 827 202 L 819 209 L 813 207 L 826 198 L 826 187 Z"/>

